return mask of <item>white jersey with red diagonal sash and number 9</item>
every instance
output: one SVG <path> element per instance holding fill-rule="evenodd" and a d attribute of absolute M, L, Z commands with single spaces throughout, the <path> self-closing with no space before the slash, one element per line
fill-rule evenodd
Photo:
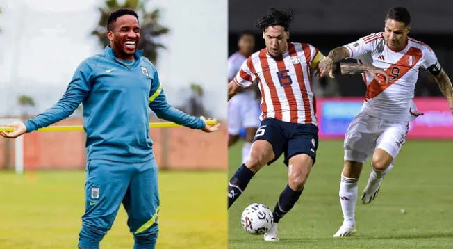
<path fill-rule="evenodd" d="M 409 118 L 420 66 L 430 68 L 430 72 L 440 70 L 434 51 L 412 38 L 407 39 L 406 47 L 400 51 L 386 45 L 383 32 L 372 33 L 345 47 L 349 49 L 350 58 L 380 67 L 388 73 L 388 85 L 379 84 L 368 73 L 363 74 L 367 90 L 362 106 L 362 111 L 387 120 Z"/>

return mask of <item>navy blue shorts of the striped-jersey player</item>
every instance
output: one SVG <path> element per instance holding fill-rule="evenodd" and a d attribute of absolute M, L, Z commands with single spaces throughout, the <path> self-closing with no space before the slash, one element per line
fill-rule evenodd
<path fill-rule="evenodd" d="M 282 153 L 285 154 L 286 166 L 290 158 L 297 154 L 308 154 L 315 165 L 318 127 L 314 124 L 294 124 L 275 118 L 265 118 L 256 131 L 254 141 L 256 140 L 266 140 L 272 145 L 275 158 L 267 163 L 268 165 L 279 159 Z"/>

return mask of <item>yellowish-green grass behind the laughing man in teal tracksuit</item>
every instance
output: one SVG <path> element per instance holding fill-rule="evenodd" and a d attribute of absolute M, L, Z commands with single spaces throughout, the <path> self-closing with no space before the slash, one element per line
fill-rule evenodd
<path fill-rule="evenodd" d="M 156 248 L 227 248 L 225 172 L 162 171 Z M 76 248 L 84 172 L 0 172 L 0 248 Z M 206 187 L 208 186 L 208 187 Z M 132 248 L 123 207 L 101 248 Z"/>

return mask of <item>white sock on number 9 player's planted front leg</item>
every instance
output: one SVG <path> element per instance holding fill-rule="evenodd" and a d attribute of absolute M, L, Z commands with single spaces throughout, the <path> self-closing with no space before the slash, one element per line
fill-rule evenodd
<path fill-rule="evenodd" d="M 357 201 L 357 181 L 359 178 L 348 178 L 341 175 L 340 182 L 340 204 L 343 211 L 343 225 L 354 226 L 356 220 L 354 218 Z"/>

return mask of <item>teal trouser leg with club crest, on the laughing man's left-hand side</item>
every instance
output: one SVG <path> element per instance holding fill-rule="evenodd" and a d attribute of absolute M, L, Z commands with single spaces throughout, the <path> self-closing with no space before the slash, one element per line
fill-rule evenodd
<path fill-rule="evenodd" d="M 99 248 L 99 242 L 112 227 L 132 171 L 133 166 L 127 163 L 107 160 L 88 162 L 79 248 Z"/>

